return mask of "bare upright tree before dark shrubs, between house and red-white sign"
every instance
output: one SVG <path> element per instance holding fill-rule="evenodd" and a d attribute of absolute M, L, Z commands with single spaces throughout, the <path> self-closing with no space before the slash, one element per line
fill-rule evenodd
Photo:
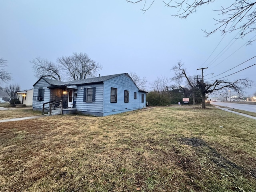
<path fill-rule="evenodd" d="M 168 91 L 169 84 L 170 84 L 170 79 L 165 76 L 157 77 L 157 79 L 154 80 L 153 83 L 151 83 L 153 90 L 158 93 L 160 103 L 164 102 L 164 96 L 165 96 L 164 93 Z"/>

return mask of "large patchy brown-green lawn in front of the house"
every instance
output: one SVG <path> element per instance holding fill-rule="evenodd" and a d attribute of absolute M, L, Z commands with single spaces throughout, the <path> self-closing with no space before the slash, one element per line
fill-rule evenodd
<path fill-rule="evenodd" d="M 2 122 L 0 191 L 255 192 L 255 138 L 214 107 Z"/>

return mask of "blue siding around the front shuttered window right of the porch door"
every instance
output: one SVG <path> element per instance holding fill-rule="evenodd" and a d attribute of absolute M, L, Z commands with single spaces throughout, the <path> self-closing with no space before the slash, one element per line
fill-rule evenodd
<path fill-rule="evenodd" d="M 95 102 L 84 102 L 84 89 L 95 87 Z M 80 112 L 103 113 L 103 84 L 78 86 L 76 108 Z"/>

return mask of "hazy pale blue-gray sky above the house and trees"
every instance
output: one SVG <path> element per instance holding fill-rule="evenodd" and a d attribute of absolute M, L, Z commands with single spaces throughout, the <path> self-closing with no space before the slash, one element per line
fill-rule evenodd
<path fill-rule="evenodd" d="M 223 80 L 256 63 L 256 58 L 245 62 L 256 56 L 256 42 L 245 45 L 256 33 L 238 38 L 238 32 L 216 32 L 206 38 L 202 30 L 215 29 L 214 18 L 220 16 L 212 10 L 221 5 L 202 6 L 184 20 L 171 16 L 175 10 L 163 2 L 143 12 L 143 4 L 126 0 L 0 0 L 0 58 L 8 60 L 6 70 L 13 78 L 9 83 L 19 84 L 22 90 L 33 88 L 38 80 L 30 60 L 40 56 L 56 62 L 73 52 L 86 53 L 99 62 L 100 76 L 134 72 L 146 77 L 148 91 L 157 77 L 172 78 L 171 68 L 179 60 L 190 76 L 201 75 L 197 68 L 208 67 L 206 81 Z M 252 66 L 224 79 L 256 82 L 255 71 Z M 255 92 L 254 84 L 244 96 Z"/>

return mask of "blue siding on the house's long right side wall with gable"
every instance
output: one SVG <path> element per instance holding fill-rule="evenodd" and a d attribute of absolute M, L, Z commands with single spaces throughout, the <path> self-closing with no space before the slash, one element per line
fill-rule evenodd
<path fill-rule="evenodd" d="M 117 88 L 116 103 L 110 102 L 111 88 Z M 129 102 L 124 102 L 124 90 L 129 91 Z M 134 99 L 134 92 L 137 93 L 137 99 Z M 139 108 L 143 108 L 143 104 L 141 104 L 141 95 L 137 86 L 130 77 L 122 75 L 104 82 L 104 116 L 136 110 Z"/>

